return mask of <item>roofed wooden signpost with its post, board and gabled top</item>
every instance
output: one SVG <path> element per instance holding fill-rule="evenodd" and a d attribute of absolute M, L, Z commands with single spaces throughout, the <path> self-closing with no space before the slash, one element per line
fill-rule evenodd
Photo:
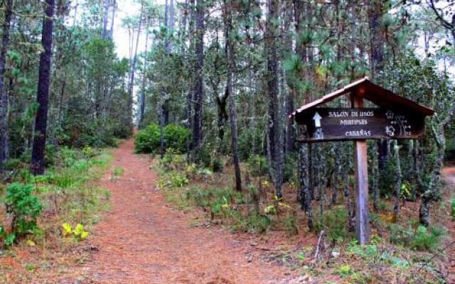
<path fill-rule="evenodd" d="M 319 107 L 348 93 L 351 108 Z M 378 107 L 364 108 L 364 99 Z M 297 139 L 301 143 L 353 141 L 355 231 L 359 244 L 367 244 L 370 236 L 366 139 L 417 138 L 424 133 L 425 116 L 433 114 L 432 109 L 383 89 L 367 77 L 305 104 L 291 114 L 297 124 L 306 126 L 305 135 Z"/>

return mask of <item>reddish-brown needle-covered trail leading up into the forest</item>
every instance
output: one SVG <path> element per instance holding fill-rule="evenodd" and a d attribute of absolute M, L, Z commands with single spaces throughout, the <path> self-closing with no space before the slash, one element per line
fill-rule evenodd
<path fill-rule="evenodd" d="M 90 236 L 92 259 L 84 273 L 90 283 L 278 283 L 284 268 L 247 254 L 249 241 L 225 229 L 190 226 L 191 214 L 166 207 L 154 187 L 149 158 L 134 155 L 132 139 L 113 152 L 113 167 L 124 173 L 102 186 L 112 193 L 106 212 Z"/>

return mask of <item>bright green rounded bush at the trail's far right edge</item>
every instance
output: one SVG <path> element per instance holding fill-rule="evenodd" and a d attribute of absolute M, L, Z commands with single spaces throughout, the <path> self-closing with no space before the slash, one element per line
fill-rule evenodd
<path fill-rule="evenodd" d="M 174 148 L 183 153 L 186 149 L 186 135 L 188 130 L 176 124 L 168 124 L 164 127 L 164 145 L 166 148 Z M 160 147 L 160 129 L 157 124 L 150 124 L 139 131 L 134 138 L 136 153 L 155 153 Z"/>

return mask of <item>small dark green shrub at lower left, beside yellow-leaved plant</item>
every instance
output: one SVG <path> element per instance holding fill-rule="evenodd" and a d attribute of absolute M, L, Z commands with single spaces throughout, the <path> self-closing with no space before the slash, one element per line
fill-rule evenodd
<path fill-rule="evenodd" d="M 42 205 L 38 197 L 32 195 L 33 185 L 18 182 L 6 186 L 6 213 L 11 214 L 11 228 L 16 236 L 33 232 L 36 229 L 36 217 Z"/>

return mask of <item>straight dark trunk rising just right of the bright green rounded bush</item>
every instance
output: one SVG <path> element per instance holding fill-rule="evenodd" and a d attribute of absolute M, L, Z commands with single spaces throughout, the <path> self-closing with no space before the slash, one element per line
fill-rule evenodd
<path fill-rule="evenodd" d="M 194 76 L 193 148 L 198 151 L 202 140 L 204 0 L 196 0 L 196 72 Z"/>

